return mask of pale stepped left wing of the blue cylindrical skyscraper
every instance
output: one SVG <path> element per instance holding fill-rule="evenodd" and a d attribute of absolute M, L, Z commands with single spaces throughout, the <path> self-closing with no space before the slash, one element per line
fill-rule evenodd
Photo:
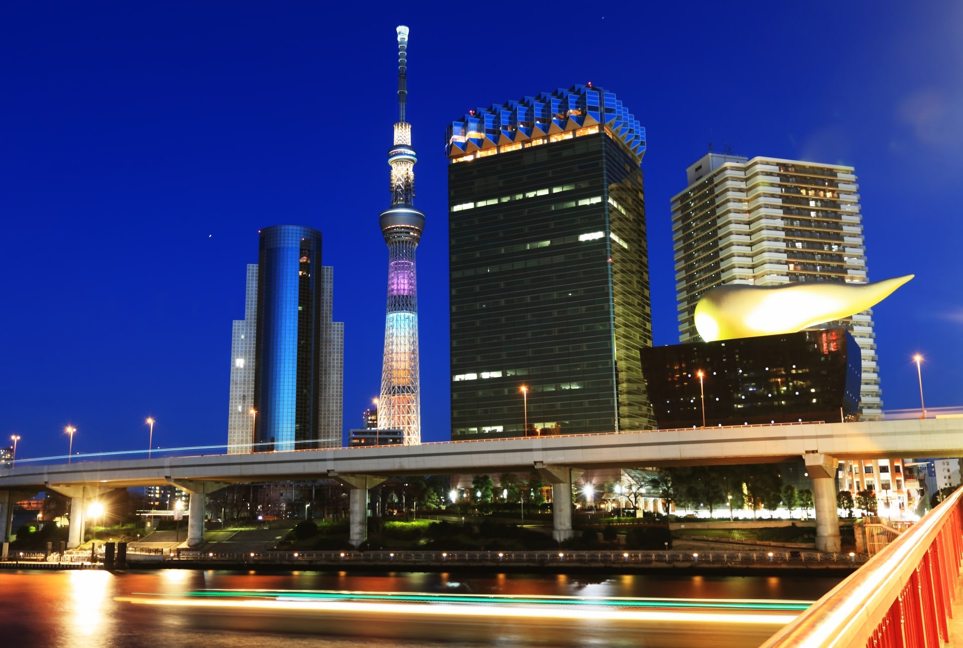
<path fill-rule="evenodd" d="M 257 264 L 247 264 L 244 320 L 231 326 L 231 391 L 227 415 L 227 454 L 251 452 L 254 428 L 254 341 L 257 332 Z"/>

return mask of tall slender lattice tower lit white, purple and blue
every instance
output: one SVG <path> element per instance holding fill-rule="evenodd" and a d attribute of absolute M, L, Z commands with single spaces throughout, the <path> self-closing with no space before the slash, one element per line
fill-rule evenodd
<path fill-rule="evenodd" d="M 398 107 L 391 166 L 391 207 L 381 212 L 381 233 L 388 245 L 388 311 L 384 323 L 384 362 L 377 427 L 403 429 L 404 445 L 421 443 L 421 392 L 418 370 L 418 291 L 415 248 L 425 215 L 414 208 L 415 150 L 411 124 L 404 120 L 408 28 L 398 28 Z"/>

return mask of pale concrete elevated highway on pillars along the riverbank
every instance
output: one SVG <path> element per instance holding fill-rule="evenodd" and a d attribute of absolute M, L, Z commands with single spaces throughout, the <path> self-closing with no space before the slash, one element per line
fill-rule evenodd
<path fill-rule="evenodd" d="M 605 434 L 305 450 L 212 454 L 32 465 L 0 469 L 0 517 L 9 525 L 13 492 L 52 490 L 73 510 L 112 488 L 174 484 L 191 493 L 189 544 L 203 538 L 204 496 L 228 483 L 335 479 L 351 490 L 351 542 L 364 541 L 369 488 L 388 477 L 537 470 L 553 485 L 555 536 L 572 535 L 571 488 L 588 468 L 774 463 L 802 456 L 813 479 L 817 548 L 840 545 L 834 478 L 838 462 L 856 458 L 963 455 L 963 418 L 884 422 L 687 428 Z M 6 491 L 6 497 L 5 497 Z M 6 507 L 6 510 L 4 508 Z M 70 523 L 70 544 L 83 521 Z M 7 529 L 0 531 L 9 532 Z"/>

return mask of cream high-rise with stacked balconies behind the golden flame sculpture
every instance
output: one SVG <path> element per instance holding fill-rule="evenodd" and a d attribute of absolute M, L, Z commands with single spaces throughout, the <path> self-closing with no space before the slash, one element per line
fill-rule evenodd
<path fill-rule="evenodd" d="M 693 315 L 728 283 L 866 283 L 859 189 L 852 167 L 709 153 L 672 197 L 680 342 L 699 342 Z M 862 352 L 862 420 L 882 418 L 872 309 L 839 323 Z"/>

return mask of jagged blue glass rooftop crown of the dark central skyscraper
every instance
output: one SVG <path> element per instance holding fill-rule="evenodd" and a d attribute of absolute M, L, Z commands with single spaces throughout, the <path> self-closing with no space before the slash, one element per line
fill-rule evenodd
<path fill-rule="evenodd" d="M 470 111 L 448 127 L 445 152 L 452 162 L 467 162 L 526 145 L 587 134 L 588 129 L 595 133 L 601 128 L 623 143 L 641 163 L 645 129 L 615 98 L 614 92 L 593 88 L 591 84 Z"/>

